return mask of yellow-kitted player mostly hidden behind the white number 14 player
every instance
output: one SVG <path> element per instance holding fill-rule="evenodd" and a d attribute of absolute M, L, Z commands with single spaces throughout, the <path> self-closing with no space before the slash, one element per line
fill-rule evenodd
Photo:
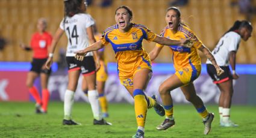
<path fill-rule="evenodd" d="M 94 37 L 96 41 L 98 41 L 101 38 L 101 33 L 97 31 L 96 25 L 93 25 L 93 32 Z M 97 91 L 99 92 L 99 103 L 101 104 L 101 111 L 102 111 L 102 117 L 107 118 L 108 115 L 108 101 L 104 94 L 105 89 L 105 82 L 108 79 L 108 71 L 107 71 L 107 59 L 104 56 L 104 47 L 102 49 L 98 50 L 99 54 L 99 63 L 101 64 L 101 67 L 96 73 L 96 84 L 97 84 Z M 87 83 L 86 79 L 83 79 L 82 83 L 82 89 L 84 91 L 84 94 L 88 95 L 88 89 L 87 89 Z"/>

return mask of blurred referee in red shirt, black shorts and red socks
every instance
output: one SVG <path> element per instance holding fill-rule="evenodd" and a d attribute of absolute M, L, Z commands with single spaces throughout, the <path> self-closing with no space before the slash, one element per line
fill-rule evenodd
<path fill-rule="evenodd" d="M 31 69 L 28 73 L 26 85 L 30 91 L 30 94 L 36 100 L 36 113 L 46 113 L 49 101 L 48 91 L 48 79 L 51 74 L 51 68 L 45 68 L 45 62 L 48 58 L 48 50 L 52 43 L 52 35 L 46 32 L 47 22 L 46 19 L 40 18 L 37 21 L 37 31 L 33 34 L 30 42 L 30 46 L 20 44 L 20 47 L 25 50 L 33 50 L 33 61 L 31 62 Z M 40 76 L 40 82 L 42 86 L 42 99 L 40 94 L 33 86 L 34 81 Z"/>

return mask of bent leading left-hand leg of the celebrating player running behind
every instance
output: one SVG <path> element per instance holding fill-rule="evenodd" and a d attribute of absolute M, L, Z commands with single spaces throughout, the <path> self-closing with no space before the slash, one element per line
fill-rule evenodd
<path fill-rule="evenodd" d="M 166 119 L 164 119 L 163 123 L 157 126 L 157 130 L 167 130 L 175 125 L 173 118 L 173 102 L 170 91 L 183 85 L 183 82 L 181 82 L 176 74 L 173 74 L 168 79 L 164 80 L 163 83 L 161 83 L 158 91 L 163 101 Z"/>

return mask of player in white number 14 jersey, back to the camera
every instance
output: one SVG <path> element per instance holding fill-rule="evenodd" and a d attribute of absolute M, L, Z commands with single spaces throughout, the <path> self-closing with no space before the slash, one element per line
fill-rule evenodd
<path fill-rule="evenodd" d="M 63 125 L 78 125 L 72 121 L 71 111 L 73 104 L 73 96 L 78 85 L 80 73 L 86 79 L 88 85 L 88 98 L 93 112 L 93 124 L 95 125 L 110 125 L 102 119 L 101 109 L 99 107 L 98 92 L 96 90 L 96 67 L 93 59 L 93 53 L 90 52 L 86 55 L 85 61 L 77 61 L 75 59 L 76 50 L 81 50 L 89 46 L 89 43 L 95 43 L 93 37 L 92 25 L 95 23 L 90 14 L 84 13 L 86 11 L 86 2 L 84 0 L 64 0 L 65 17 L 60 23 L 60 28 L 54 35 L 52 40 L 52 47 L 50 50 L 49 58 L 46 62 L 46 67 L 51 67 L 52 56 L 55 47 L 60 40 L 61 35 L 66 32 L 67 35 L 67 52 L 66 61 L 69 67 L 68 71 L 68 86 L 64 95 L 64 119 Z M 94 54 L 97 54 L 94 52 Z"/>

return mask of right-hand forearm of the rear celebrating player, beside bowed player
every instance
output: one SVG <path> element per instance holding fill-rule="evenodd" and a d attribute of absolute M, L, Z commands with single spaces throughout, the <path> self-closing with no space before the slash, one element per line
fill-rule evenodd
<path fill-rule="evenodd" d="M 211 54 L 210 50 L 204 46 L 204 44 L 201 45 L 201 47 L 199 47 L 199 50 L 204 53 L 204 55 L 211 61 L 211 63 L 213 64 L 213 66 L 216 68 L 216 72 L 217 75 L 219 76 L 220 74 L 222 74 L 224 71 L 219 67 L 219 65 L 217 65 L 217 62 L 214 58 L 214 56 Z"/>

